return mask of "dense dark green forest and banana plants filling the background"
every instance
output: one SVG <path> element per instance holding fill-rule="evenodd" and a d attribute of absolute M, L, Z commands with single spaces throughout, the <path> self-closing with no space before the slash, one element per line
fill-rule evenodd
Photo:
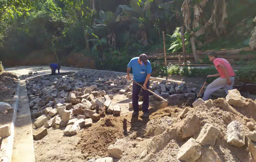
<path fill-rule="evenodd" d="M 249 46 L 255 0 L 1 0 L 0 60 L 125 71 L 133 56 Z M 183 16 L 182 16 L 183 15 Z"/>

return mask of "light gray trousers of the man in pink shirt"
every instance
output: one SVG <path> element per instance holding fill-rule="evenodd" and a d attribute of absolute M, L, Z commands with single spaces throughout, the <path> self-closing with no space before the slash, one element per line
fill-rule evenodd
<path fill-rule="evenodd" d="M 212 93 L 214 93 L 216 90 L 223 88 L 224 91 L 228 94 L 229 90 L 233 89 L 233 85 L 235 82 L 235 77 L 231 76 L 230 81 L 232 82 L 231 85 L 228 85 L 226 78 L 218 78 L 215 81 L 213 81 L 211 84 L 209 84 L 204 92 L 204 95 L 202 97 L 202 100 L 206 101 L 209 100 Z"/>

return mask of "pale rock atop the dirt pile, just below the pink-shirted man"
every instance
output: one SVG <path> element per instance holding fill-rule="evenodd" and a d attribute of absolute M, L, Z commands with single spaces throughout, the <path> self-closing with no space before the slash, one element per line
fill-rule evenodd
<path fill-rule="evenodd" d="M 226 96 L 226 100 L 231 106 L 244 107 L 246 106 L 246 99 L 241 96 L 237 89 L 229 90 L 229 94 Z"/>

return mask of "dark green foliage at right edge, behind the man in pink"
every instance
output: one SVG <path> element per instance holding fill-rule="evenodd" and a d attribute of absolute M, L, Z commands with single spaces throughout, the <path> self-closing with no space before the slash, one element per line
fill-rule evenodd
<path fill-rule="evenodd" d="M 238 80 L 244 83 L 256 83 L 256 62 L 252 61 L 248 65 L 237 70 Z"/>

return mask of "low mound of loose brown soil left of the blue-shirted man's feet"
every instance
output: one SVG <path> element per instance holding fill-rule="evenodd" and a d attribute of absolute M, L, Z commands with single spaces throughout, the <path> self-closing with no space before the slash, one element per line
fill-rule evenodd
<path fill-rule="evenodd" d="M 123 137 L 123 118 L 107 116 L 81 133 L 78 147 L 86 159 L 108 156 L 108 146 Z"/>

